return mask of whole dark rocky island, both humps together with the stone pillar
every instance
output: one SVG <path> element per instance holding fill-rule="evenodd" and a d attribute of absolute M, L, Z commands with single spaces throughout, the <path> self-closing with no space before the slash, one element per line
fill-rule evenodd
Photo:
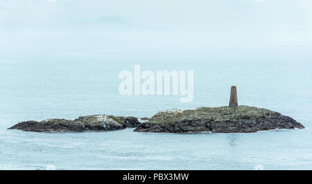
<path fill-rule="evenodd" d="M 200 107 L 198 109 L 161 111 L 152 118 L 106 116 L 103 114 L 80 116 L 75 120 L 50 119 L 20 122 L 9 129 L 44 132 L 113 131 L 137 127 L 134 131 L 192 133 L 248 133 L 270 129 L 304 129 L 291 117 L 268 109 L 239 106 L 236 86 L 231 87 L 229 106 Z"/>

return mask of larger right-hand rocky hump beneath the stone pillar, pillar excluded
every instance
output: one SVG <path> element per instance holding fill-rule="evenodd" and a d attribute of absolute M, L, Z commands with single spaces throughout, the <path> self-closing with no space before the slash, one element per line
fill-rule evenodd
<path fill-rule="evenodd" d="M 256 132 L 270 129 L 304 129 L 293 118 L 257 107 L 201 107 L 191 110 L 161 111 L 135 131 L 187 133 L 211 131 L 219 133 Z"/>

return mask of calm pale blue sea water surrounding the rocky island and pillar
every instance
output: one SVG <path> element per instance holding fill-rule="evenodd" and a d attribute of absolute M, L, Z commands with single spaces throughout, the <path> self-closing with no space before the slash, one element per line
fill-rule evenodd
<path fill-rule="evenodd" d="M 181 35 L 144 36 L 54 35 L 34 41 L 31 35 L 19 44 L 6 38 L 10 48 L 1 45 L 0 51 L 0 169 L 312 169 L 311 47 L 236 48 L 181 40 Z M 154 72 L 193 70 L 193 102 L 180 103 L 175 95 L 119 95 L 119 72 L 133 71 L 135 64 Z M 251 134 L 7 130 L 24 120 L 97 113 L 141 118 L 170 108 L 224 106 L 233 84 L 239 104 L 279 111 L 306 129 Z"/>

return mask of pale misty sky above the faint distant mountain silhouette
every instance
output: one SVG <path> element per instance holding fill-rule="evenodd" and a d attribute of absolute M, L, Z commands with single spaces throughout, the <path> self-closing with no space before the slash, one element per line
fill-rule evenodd
<path fill-rule="evenodd" d="M 0 23 L 66 23 L 117 15 L 132 24 L 306 29 L 311 0 L 0 0 Z"/>

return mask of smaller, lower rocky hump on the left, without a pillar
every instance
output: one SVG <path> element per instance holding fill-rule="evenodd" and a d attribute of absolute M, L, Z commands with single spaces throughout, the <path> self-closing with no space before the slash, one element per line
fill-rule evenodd
<path fill-rule="evenodd" d="M 92 116 L 80 116 L 75 120 L 49 119 L 41 122 L 20 122 L 9 129 L 23 131 L 59 131 L 59 132 L 81 132 L 81 131 L 113 131 L 125 129 L 127 125 L 124 120 L 116 116 L 103 114 Z"/>

